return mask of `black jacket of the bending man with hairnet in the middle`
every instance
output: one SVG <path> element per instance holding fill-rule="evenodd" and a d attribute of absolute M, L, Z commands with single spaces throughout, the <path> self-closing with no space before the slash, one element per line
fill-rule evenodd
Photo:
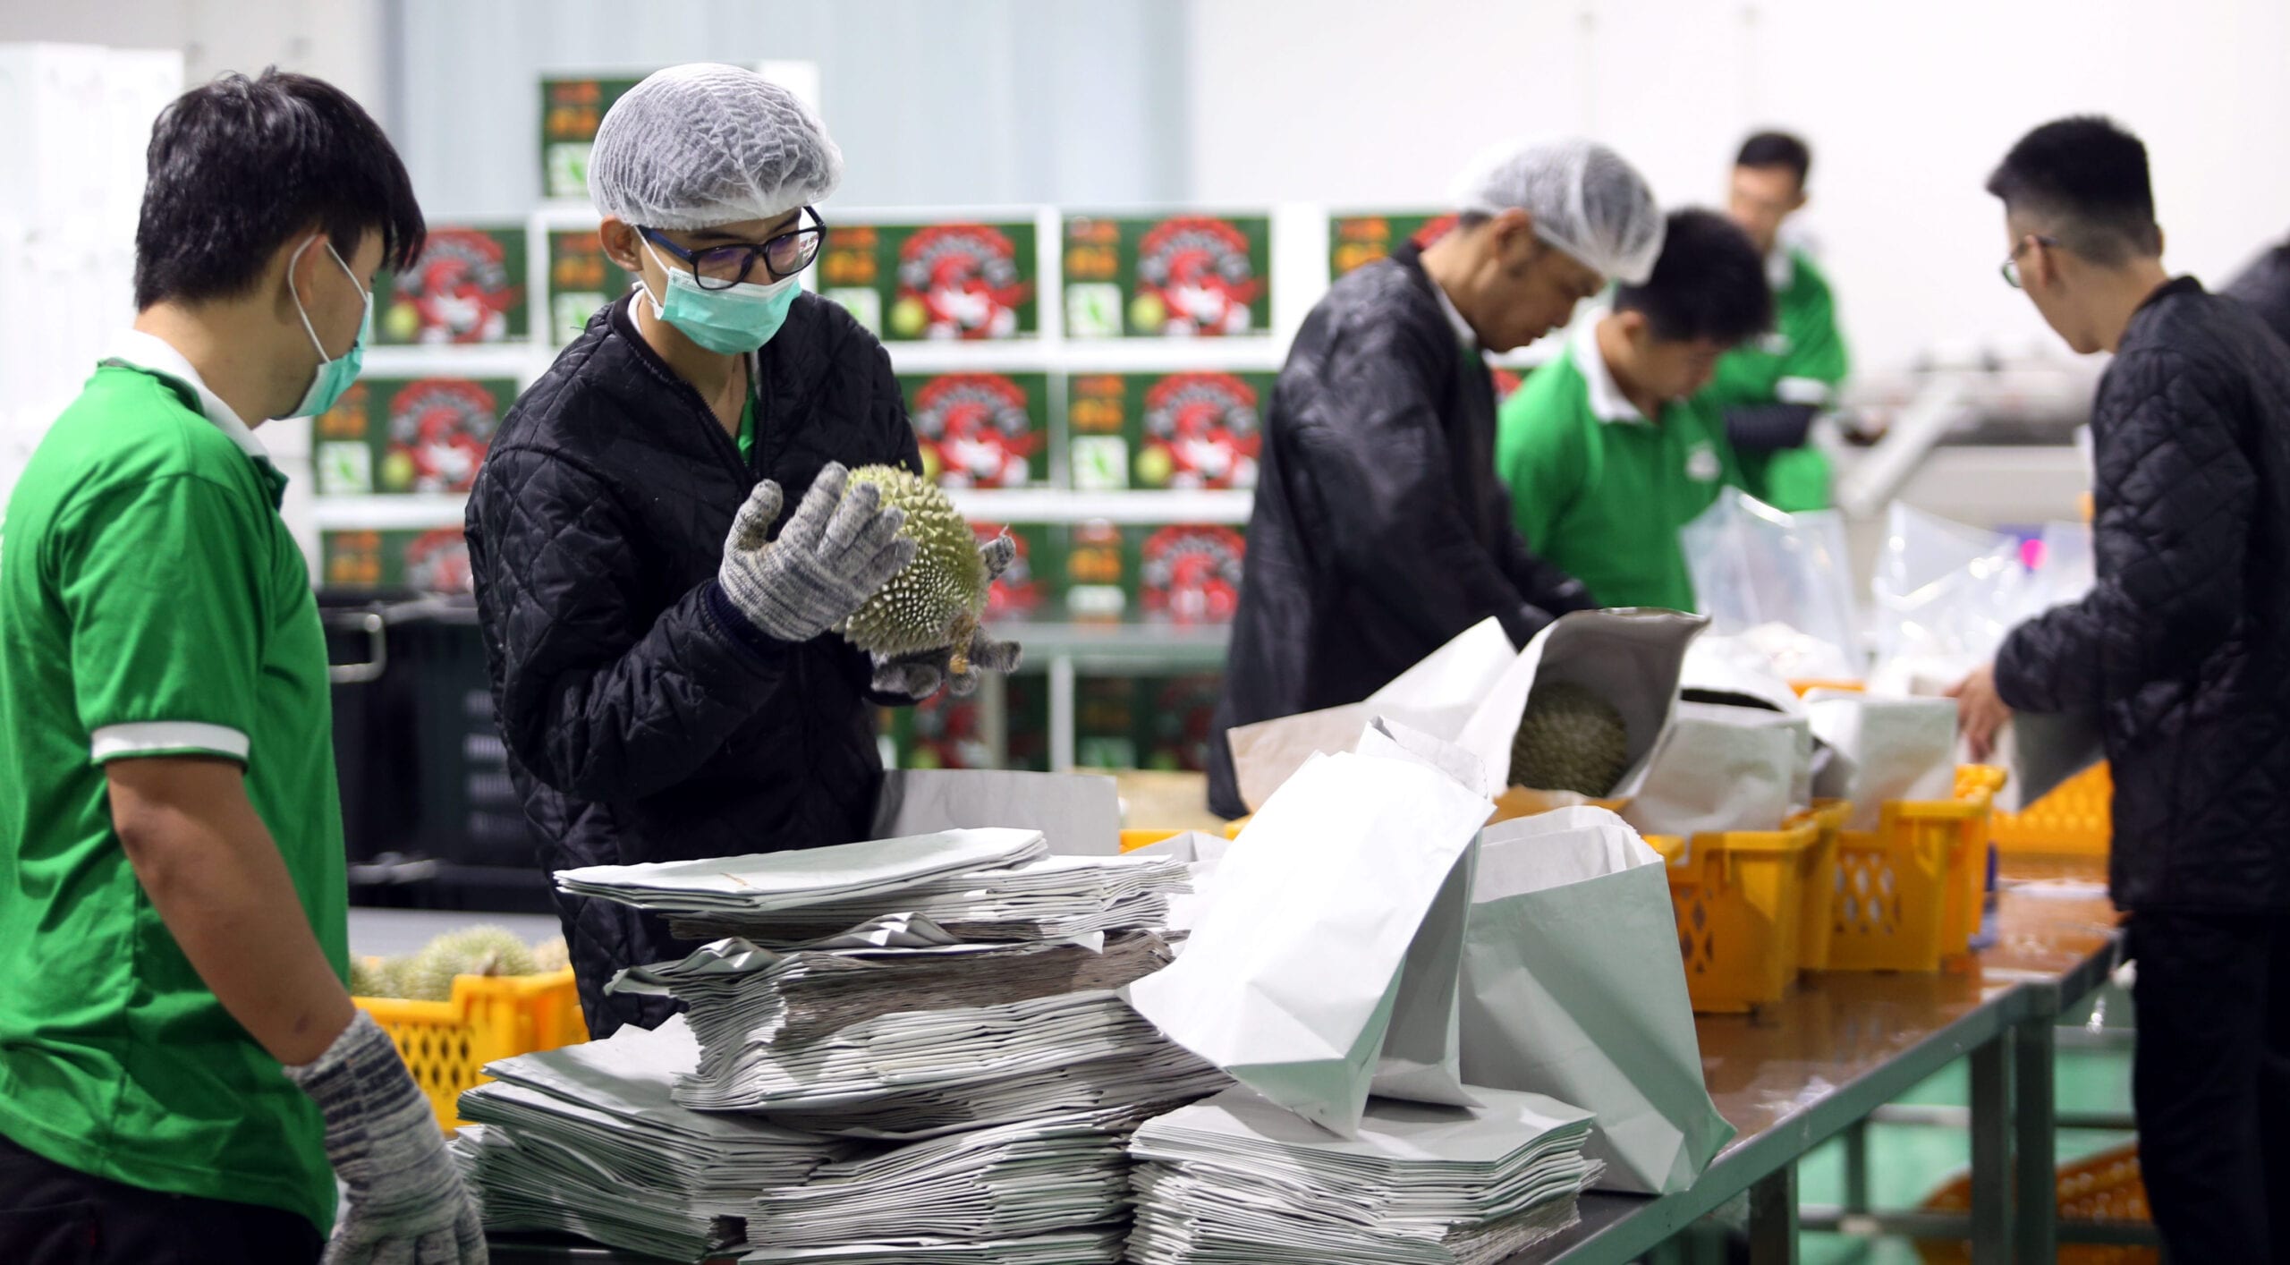
<path fill-rule="evenodd" d="M 1422 254 L 1340 280 L 1273 387 L 1209 807 L 1239 816 L 1225 729 L 1356 704 L 1495 616 L 1525 644 L 1589 607 L 1527 552 L 1495 479 L 1495 387 Z"/>

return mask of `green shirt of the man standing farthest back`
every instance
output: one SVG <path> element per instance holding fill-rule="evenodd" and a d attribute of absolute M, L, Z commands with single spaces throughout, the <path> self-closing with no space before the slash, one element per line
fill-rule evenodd
<path fill-rule="evenodd" d="M 1720 417 L 1727 408 L 1811 403 L 1832 408 L 1846 380 L 1846 339 L 1837 332 L 1830 282 L 1802 250 L 1779 250 L 1768 268 L 1772 332 L 1729 351 L 1701 392 Z M 1805 445 L 1740 454 L 1743 488 L 1786 511 L 1830 506 L 1830 458 Z"/>

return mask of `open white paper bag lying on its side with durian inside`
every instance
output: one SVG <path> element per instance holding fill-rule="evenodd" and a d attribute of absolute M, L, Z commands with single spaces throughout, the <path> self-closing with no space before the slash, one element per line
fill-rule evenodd
<path fill-rule="evenodd" d="M 1518 651 L 1502 626 L 1488 619 L 1365 704 L 1232 729 L 1241 798 L 1250 807 L 1264 804 L 1314 752 L 1351 752 L 1379 715 L 1472 752 L 1486 770 L 1486 786 L 1507 786 L 1511 740 L 1541 671 L 1587 685 L 1621 710 L 1630 731 L 1630 763 L 1612 795 L 1626 798 L 1642 781 L 1647 756 L 1669 722 L 1685 646 L 1706 623 L 1672 610 L 1587 610 L 1557 619 Z M 1530 800 L 1532 804 L 1514 804 L 1514 795 L 1502 798 L 1518 811 L 1585 802 L 1566 793 L 1537 793 Z M 1507 816 L 1516 814 L 1507 809 Z"/>

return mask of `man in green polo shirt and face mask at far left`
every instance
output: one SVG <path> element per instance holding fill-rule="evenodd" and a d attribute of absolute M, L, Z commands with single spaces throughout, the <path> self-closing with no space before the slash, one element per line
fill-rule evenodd
<path fill-rule="evenodd" d="M 485 1258 L 344 992 L 325 639 L 252 426 L 357 376 L 396 151 L 266 71 L 153 128 L 135 328 L 0 520 L 0 1260 Z"/>

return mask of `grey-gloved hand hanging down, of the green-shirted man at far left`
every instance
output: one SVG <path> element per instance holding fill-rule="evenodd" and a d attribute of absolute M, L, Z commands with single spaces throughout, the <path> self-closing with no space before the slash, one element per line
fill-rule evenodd
<path fill-rule="evenodd" d="M 286 1068 L 286 1079 L 325 1114 L 325 1157 L 348 1187 L 325 1265 L 485 1265 L 476 1201 L 447 1157 L 428 1098 L 373 1015 L 360 1011 L 325 1054 Z"/>

